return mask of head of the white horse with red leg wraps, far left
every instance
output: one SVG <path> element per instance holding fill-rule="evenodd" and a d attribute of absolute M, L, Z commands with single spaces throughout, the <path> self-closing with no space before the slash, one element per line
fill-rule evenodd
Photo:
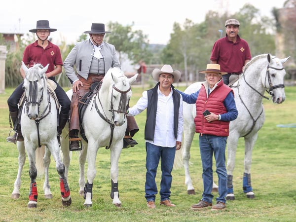
<path fill-rule="evenodd" d="M 43 68 L 41 64 L 35 64 L 33 67 L 28 68 L 22 62 L 22 68 L 26 74 L 23 84 L 23 89 L 26 95 L 26 111 L 30 119 L 37 119 L 39 116 L 39 107 L 43 100 L 43 92 L 46 88 L 45 73 L 49 64 Z"/>

